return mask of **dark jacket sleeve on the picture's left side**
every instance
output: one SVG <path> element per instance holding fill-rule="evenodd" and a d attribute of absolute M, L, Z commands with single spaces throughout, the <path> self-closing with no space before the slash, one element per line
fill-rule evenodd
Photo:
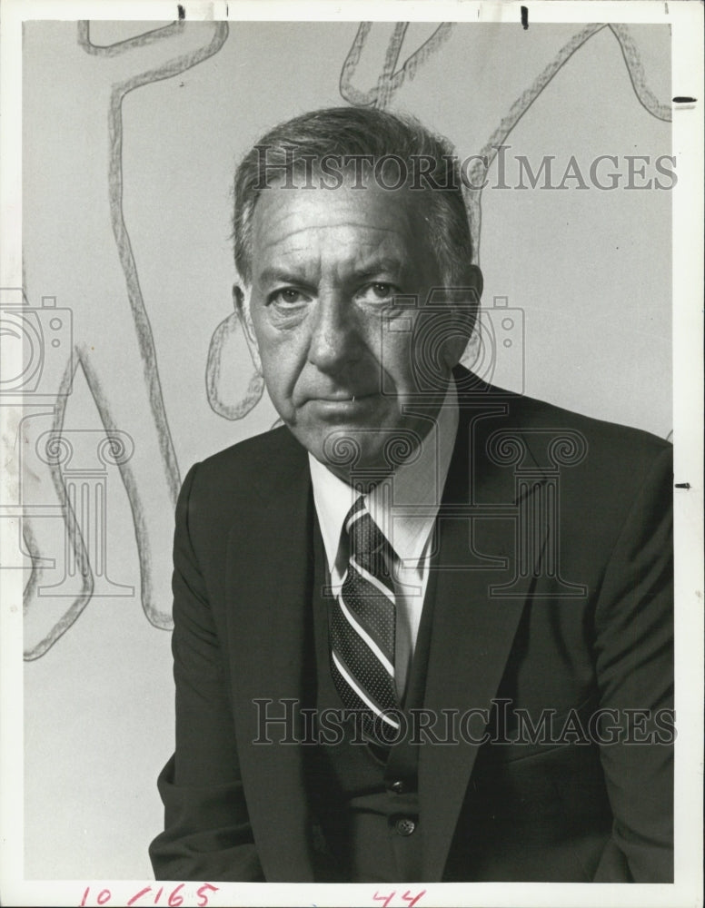
<path fill-rule="evenodd" d="M 156 879 L 262 881 L 240 778 L 223 654 L 189 533 L 197 465 L 176 506 L 176 745 L 159 775 L 164 832 L 150 845 Z"/>

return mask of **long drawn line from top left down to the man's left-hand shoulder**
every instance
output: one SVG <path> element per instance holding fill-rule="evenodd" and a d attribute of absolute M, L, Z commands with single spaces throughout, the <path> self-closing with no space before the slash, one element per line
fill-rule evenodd
<path fill-rule="evenodd" d="M 120 262 L 123 266 L 124 277 L 127 284 L 127 293 L 133 311 L 134 325 L 140 353 L 144 362 L 144 379 L 149 390 L 150 406 L 159 437 L 159 446 L 166 465 L 167 481 L 170 486 L 174 503 L 178 496 L 180 477 L 179 468 L 174 453 L 174 442 L 169 429 L 164 398 L 156 363 L 156 350 L 154 349 L 154 336 L 152 326 L 144 307 L 142 289 L 137 274 L 136 263 L 130 235 L 124 223 L 123 212 L 123 119 L 122 104 L 125 95 L 152 82 L 160 82 L 173 75 L 183 73 L 208 57 L 216 54 L 228 36 L 228 25 L 218 23 L 215 27 L 213 39 L 209 44 L 199 47 L 189 54 L 182 54 L 174 60 L 137 74 L 114 87 L 110 98 L 108 113 L 110 135 L 110 163 L 108 171 L 108 189 L 110 196 L 110 212 L 113 225 L 115 243 L 117 245 Z"/>

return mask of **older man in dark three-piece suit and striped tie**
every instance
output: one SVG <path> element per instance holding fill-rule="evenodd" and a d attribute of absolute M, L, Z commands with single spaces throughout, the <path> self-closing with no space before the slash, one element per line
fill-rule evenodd
<path fill-rule="evenodd" d="M 459 365 L 460 175 L 355 108 L 238 169 L 285 425 L 184 481 L 158 877 L 672 878 L 670 446 Z"/>

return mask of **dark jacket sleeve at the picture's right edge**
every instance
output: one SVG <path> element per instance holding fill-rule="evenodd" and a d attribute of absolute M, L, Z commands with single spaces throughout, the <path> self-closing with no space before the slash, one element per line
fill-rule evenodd
<path fill-rule="evenodd" d="M 645 471 L 595 612 L 601 763 L 614 822 L 596 882 L 673 879 L 673 539 L 671 449 Z M 613 721 L 616 720 L 616 721 Z M 616 726 L 616 728 L 614 727 Z M 612 743 L 616 734 L 619 741 Z"/>

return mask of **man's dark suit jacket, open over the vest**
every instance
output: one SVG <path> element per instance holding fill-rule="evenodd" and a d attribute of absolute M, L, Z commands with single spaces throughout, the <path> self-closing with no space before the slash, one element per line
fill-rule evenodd
<path fill-rule="evenodd" d="M 670 445 L 456 378 L 424 706 L 491 710 L 492 735 L 419 748 L 419 879 L 668 882 Z M 253 745 L 254 699 L 315 703 L 314 521 L 288 429 L 184 481 L 159 878 L 324 876 L 303 747 Z M 551 739 L 515 741 L 545 709 Z"/>

